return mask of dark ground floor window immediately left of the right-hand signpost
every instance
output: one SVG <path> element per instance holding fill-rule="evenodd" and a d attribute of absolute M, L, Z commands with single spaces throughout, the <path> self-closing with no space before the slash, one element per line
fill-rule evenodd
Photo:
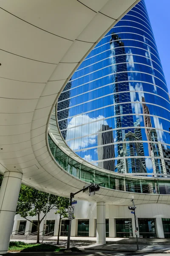
<path fill-rule="evenodd" d="M 133 237 L 131 219 L 116 219 L 116 237 Z"/>

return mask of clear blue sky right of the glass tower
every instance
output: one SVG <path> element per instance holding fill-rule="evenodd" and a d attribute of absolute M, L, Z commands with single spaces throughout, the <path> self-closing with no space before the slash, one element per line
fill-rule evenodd
<path fill-rule="evenodd" d="M 170 92 L 170 0 L 145 0 Z"/>

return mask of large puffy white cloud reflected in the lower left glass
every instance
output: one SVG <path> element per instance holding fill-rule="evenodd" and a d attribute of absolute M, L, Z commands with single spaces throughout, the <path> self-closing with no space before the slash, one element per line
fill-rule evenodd
<path fill-rule="evenodd" d="M 68 123 L 69 130 L 67 133 L 66 140 L 74 139 L 75 137 L 82 137 L 82 136 L 87 136 L 87 137 L 68 141 L 67 143 L 71 147 L 71 149 L 77 150 L 77 149 L 85 148 L 88 145 L 95 144 L 96 135 L 88 136 L 88 134 L 97 134 L 102 124 L 108 125 L 108 123 L 105 120 L 103 120 L 104 118 L 105 118 L 104 116 L 100 116 L 100 115 L 96 118 L 95 117 L 91 118 L 87 114 L 74 116 Z"/>

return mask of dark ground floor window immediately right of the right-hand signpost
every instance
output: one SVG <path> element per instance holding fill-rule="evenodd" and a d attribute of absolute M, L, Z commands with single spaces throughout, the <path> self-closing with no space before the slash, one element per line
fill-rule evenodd
<path fill-rule="evenodd" d="M 156 237 L 155 219 L 138 219 L 139 237 L 153 238 Z"/>

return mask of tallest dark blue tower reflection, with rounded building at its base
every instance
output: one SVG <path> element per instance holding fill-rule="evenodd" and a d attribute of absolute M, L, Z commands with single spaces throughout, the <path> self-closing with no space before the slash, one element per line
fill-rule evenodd
<path fill-rule="evenodd" d="M 132 116 L 132 105 L 129 93 L 126 54 L 124 43 L 118 35 L 112 34 L 110 40 L 111 47 L 111 63 L 112 63 L 112 81 L 113 81 L 113 103 L 115 117 L 115 128 L 125 128 L 116 130 L 116 141 L 130 141 L 129 143 L 119 143 L 117 146 L 118 157 L 128 157 L 119 159 L 117 170 L 119 173 L 143 173 L 146 172 L 144 159 L 134 158 L 134 156 L 144 156 L 144 151 L 141 150 L 139 137 L 132 132 L 136 129 L 131 129 L 134 126 Z M 123 72 L 123 73 L 122 73 Z M 122 115 L 122 116 L 121 116 Z M 126 115 L 126 116 L 125 116 Z M 124 117 L 125 116 L 125 117 Z M 138 128 L 140 130 L 140 128 Z M 122 132 L 124 131 L 124 133 Z M 139 134 L 139 131 L 138 131 Z"/>

